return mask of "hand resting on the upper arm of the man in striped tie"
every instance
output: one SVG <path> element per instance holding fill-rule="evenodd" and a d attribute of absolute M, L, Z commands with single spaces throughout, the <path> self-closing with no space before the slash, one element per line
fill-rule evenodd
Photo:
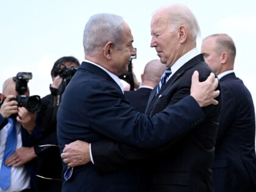
<path fill-rule="evenodd" d="M 200 107 L 218 105 L 219 102 L 215 99 L 219 96 L 219 90 L 215 91 L 218 79 L 215 78 L 215 74 L 211 73 L 204 82 L 199 82 L 199 73 L 194 71 L 191 81 L 190 95 L 196 99 Z"/>

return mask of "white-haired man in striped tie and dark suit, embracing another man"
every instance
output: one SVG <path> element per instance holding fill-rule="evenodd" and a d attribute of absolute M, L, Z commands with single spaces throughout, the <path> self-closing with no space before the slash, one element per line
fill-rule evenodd
<path fill-rule="evenodd" d="M 203 55 L 196 49 L 197 33 L 199 26 L 196 18 L 185 5 L 174 4 L 155 12 L 151 21 L 151 47 L 156 49 L 161 62 L 166 67 L 171 67 L 172 73 L 160 90 L 157 86 L 151 92 L 146 115 L 158 115 L 166 107 L 174 106 L 186 98 L 190 94 L 191 76 L 195 70 L 199 71 L 201 80 L 212 72 L 204 62 Z M 165 77 L 163 75 L 162 79 Z M 221 102 L 220 97 L 216 99 Z M 211 166 L 220 108 L 220 105 L 204 107 L 205 119 L 195 129 L 183 132 L 162 148 L 151 151 L 152 157 L 147 160 L 149 164 L 146 167 L 146 191 L 213 191 Z M 186 116 L 185 113 L 183 115 Z M 173 123 L 169 124 L 169 129 L 173 129 L 172 125 Z M 132 160 L 149 157 L 149 151 L 130 146 L 111 140 L 96 141 L 91 143 L 91 159 L 96 168 L 108 171 L 109 168 L 116 169 L 122 163 L 127 166 Z M 76 151 L 75 148 L 76 143 L 71 143 L 65 151 L 71 153 L 72 150 Z M 79 157 L 75 156 L 73 158 L 79 161 Z M 84 158 L 80 159 L 80 163 L 86 163 L 88 152 L 81 152 L 81 156 Z M 68 158 L 65 162 L 70 162 L 70 166 L 80 165 L 74 163 L 68 154 L 64 153 L 62 157 Z M 137 172 L 133 174 L 138 175 Z"/>

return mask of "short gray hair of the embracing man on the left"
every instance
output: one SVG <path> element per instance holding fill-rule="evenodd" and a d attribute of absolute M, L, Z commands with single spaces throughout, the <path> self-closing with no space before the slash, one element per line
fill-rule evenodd
<path fill-rule="evenodd" d="M 123 18 L 110 13 L 93 15 L 85 25 L 84 51 L 94 56 L 108 41 L 119 48 L 123 38 Z"/>

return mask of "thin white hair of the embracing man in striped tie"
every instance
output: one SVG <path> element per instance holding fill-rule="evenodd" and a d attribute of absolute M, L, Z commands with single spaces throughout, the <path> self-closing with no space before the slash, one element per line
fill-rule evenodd
<path fill-rule="evenodd" d="M 191 35 L 191 40 L 196 41 L 197 36 L 201 34 L 199 24 L 197 23 L 196 16 L 183 4 L 172 4 L 168 7 L 163 7 L 161 10 L 166 10 L 169 17 L 169 26 L 171 30 L 176 30 L 180 25 L 185 25 L 188 33 Z"/>

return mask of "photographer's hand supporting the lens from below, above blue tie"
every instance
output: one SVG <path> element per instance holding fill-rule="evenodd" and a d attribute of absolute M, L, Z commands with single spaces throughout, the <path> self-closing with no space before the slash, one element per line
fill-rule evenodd
<path fill-rule="evenodd" d="M 25 107 L 18 107 L 18 116 L 16 119 L 31 134 L 35 128 L 36 116 L 37 112 L 29 112 Z"/>

